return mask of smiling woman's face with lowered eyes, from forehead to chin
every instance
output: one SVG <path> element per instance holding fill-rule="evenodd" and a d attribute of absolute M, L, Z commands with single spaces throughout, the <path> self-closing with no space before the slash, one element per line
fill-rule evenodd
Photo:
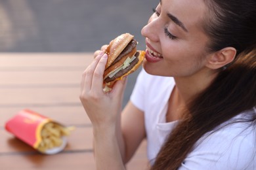
<path fill-rule="evenodd" d="M 160 0 L 141 31 L 146 37 L 146 72 L 190 76 L 203 69 L 208 41 L 201 27 L 205 11 L 202 0 Z"/>

